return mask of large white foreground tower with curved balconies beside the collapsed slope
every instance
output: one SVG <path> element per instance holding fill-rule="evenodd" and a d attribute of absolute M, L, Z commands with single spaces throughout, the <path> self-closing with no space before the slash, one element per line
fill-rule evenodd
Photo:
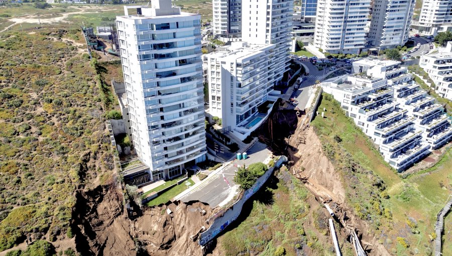
<path fill-rule="evenodd" d="M 201 17 L 170 0 L 124 11 L 117 27 L 135 150 L 153 180 L 176 177 L 205 159 Z"/>

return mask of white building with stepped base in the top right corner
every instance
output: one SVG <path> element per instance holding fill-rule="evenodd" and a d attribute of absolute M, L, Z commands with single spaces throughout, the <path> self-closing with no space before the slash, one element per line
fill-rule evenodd
<path fill-rule="evenodd" d="M 412 31 L 424 35 L 436 35 L 452 27 L 452 1 L 424 0 L 419 21 L 412 23 Z"/>

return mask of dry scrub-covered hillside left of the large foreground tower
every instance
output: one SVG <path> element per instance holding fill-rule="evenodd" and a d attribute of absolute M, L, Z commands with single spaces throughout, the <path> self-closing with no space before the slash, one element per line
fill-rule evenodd
<path fill-rule="evenodd" d="M 112 104 L 101 102 L 89 56 L 61 40 L 76 36 L 44 29 L 0 39 L 0 251 L 26 237 L 72 237 L 74 191 L 113 168 L 103 118 Z"/>

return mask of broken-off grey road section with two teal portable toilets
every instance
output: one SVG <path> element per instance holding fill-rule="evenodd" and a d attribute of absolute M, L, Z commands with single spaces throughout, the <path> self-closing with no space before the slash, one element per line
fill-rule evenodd
<path fill-rule="evenodd" d="M 213 178 L 209 178 L 204 184 L 183 196 L 180 200 L 182 202 L 199 200 L 209 204 L 212 208 L 216 207 L 219 203 L 230 197 L 230 194 L 235 191 L 233 187 L 236 184 L 233 179 L 238 169 L 237 165 L 250 165 L 252 163 L 263 162 L 270 156 L 271 152 L 264 144 L 256 142 L 253 147 L 247 151 L 247 154 L 248 159 L 234 160 L 222 171 L 215 174 Z"/>

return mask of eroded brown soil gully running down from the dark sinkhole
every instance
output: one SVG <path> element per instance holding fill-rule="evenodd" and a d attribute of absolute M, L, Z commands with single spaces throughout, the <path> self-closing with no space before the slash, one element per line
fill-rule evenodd
<path fill-rule="evenodd" d="M 265 124 L 262 125 L 257 134 L 277 152 L 275 154 L 289 158 L 290 171 L 305 183 L 318 201 L 329 201 L 330 205 L 337 205 L 338 215 L 347 212 L 347 224 L 361 237 L 363 247 L 369 255 L 390 255 L 377 242 L 377 238 L 368 233 L 368 223 L 352 215 L 353 210 L 345 201 L 344 181 L 323 153 L 320 140 L 313 129 L 302 125 L 303 117 L 298 117 L 294 110 L 280 109 L 268 118 L 268 128 Z M 345 240 L 348 233 L 341 230 L 338 231 L 338 236 L 340 240 Z"/>

